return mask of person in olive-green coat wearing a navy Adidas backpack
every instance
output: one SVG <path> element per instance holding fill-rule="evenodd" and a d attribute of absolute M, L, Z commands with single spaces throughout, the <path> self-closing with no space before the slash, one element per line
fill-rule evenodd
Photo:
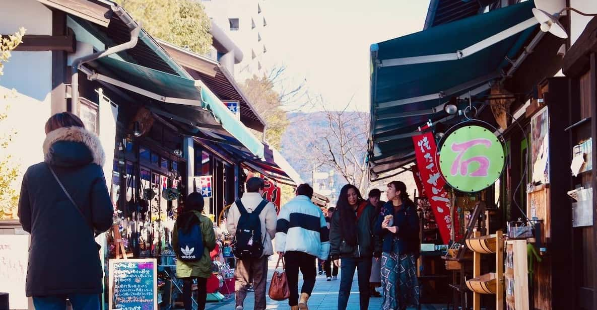
<path fill-rule="evenodd" d="M 214 224 L 203 215 L 201 193 L 191 193 L 176 219 L 172 247 L 176 252 L 176 276 L 183 280 L 184 309 L 192 309 L 193 279 L 197 280 L 197 309 L 205 309 L 207 279 L 211 277 L 210 252 L 216 247 Z"/>

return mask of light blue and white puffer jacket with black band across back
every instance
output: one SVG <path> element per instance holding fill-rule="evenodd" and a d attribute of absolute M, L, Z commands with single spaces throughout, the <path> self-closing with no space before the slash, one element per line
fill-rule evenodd
<path fill-rule="evenodd" d="M 330 230 L 324 213 L 307 196 L 297 196 L 278 215 L 276 252 L 298 251 L 328 259 Z"/>

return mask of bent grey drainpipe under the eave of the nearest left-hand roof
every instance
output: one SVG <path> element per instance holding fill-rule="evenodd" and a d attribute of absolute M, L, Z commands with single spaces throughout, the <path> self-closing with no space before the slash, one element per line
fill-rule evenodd
<path fill-rule="evenodd" d="M 123 23 L 125 23 L 129 29 L 131 29 L 131 39 L 128 42 L 124 42 L 123 44 L 116 45 L 115 47 L 108 48 L 104 51 L 95 52 L 90 55 L 85 55 L 83 57 L 76 58 L 73 60 L 72 63 L 72 78 L 70 82 L 70 97 L 71 97 L 71 109 L 75 113 L 79 111 L 79 69 L 81 68 L 82 64 L 88 63 L 93 60 L 97 60 L 101 57 L 106 57 L 107 55 L 116 54 L 118 52 L 126 51 L 127 49 L 131 49 L 137 45 L 137 40 L 139 39 L 139 33 L 141 32 L 141 26 L 137 24 L 130 15 L 128 15 L 122 7 L 117 5 L 112 6 L 112 11 L 116 16 L 118 16 Z"/>

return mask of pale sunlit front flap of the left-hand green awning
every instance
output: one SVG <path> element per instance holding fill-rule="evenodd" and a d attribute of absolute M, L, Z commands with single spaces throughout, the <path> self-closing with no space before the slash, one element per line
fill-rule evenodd
<path fill-rule="evenodd" d="M 201 102 L 202 107 L 210 111 L 220 122 L 222 127 L 229 132 L 232 137 L 236 138 L 242 145 L 245 145 L 251 153 L 263 159 L 264 150 L 263 144 L 257 139 L 251 131 L 236 116 L 211 92 L 207 86 L 201 83 Z"/>

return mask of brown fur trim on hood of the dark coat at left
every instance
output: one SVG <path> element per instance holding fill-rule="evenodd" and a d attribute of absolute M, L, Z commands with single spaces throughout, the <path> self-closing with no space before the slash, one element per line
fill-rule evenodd
<path fill-rule="evenodd" d="M 82 143 L 91 151 L 93 163 L 103 166 L 106 162 L 106 154 L 104 154 L 100 139 L 97 135 L 84 128 L 76 126 L 59 128 L 46 135 L 44 141 L 45 162 L 51 163 L 53 161 L 53 145 L 59 141 Z"/>

